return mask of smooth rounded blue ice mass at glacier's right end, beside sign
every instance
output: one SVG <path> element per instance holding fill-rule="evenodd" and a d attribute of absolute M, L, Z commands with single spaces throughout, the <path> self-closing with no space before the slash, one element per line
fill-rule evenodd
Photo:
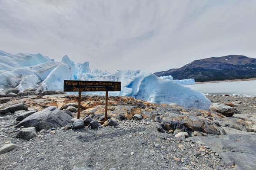
<path fill-rule="evenodd" d="M 211 105 L 211 101 L 202 93 L 154 74 L 143 78 L 135 98 L 156 104 L 176 103 L 185 108 L 208 110 Z"/>

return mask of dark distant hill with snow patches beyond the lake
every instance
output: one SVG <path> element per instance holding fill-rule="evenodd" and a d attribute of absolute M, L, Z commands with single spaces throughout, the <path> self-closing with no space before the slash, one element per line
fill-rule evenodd
<path fill-rule="evenodd" d="M 211 57 L 155 75 L 172 75 L 173 79 L 194 78 L 196 82 L 256 78 L 256 59 L 239 55 Z"/>

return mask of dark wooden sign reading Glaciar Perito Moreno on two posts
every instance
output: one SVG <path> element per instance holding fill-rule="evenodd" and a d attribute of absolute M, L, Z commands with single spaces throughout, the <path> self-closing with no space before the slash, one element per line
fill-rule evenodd
<path fill-rule="evenodd" d="M 80 118 L 82 92 L 106 92 L 106 102 L 105 102 L 105 121 L 106 121 L 108 92 L 121 91 L 121 82 L 64 80 L 63 91 L 79 92 L 77 119 Z"/>

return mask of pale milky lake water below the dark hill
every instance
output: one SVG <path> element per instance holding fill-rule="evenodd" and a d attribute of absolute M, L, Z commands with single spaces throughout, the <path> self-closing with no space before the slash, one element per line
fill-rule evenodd
<path fill-rule="evenodd" d="M 256 96 L 256 80 L 241 82 L 219 82 L 203 83 L 196 85 L 186 85 L 193 90 L 198 90 L 203 94 L 237 94 Z"/>

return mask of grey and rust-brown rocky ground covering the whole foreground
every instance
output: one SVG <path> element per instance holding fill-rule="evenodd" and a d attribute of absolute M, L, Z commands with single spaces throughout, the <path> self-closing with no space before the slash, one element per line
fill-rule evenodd
<path fill-rule="evenodd" d="M 104 97 L 83 95 L 77 120 L 76 95 L 2 96 L 0 169 L 253 169 L 256 98 L 207 97 L 233 107 L 220 113 L 110 97 L 101 125 Z"/>

